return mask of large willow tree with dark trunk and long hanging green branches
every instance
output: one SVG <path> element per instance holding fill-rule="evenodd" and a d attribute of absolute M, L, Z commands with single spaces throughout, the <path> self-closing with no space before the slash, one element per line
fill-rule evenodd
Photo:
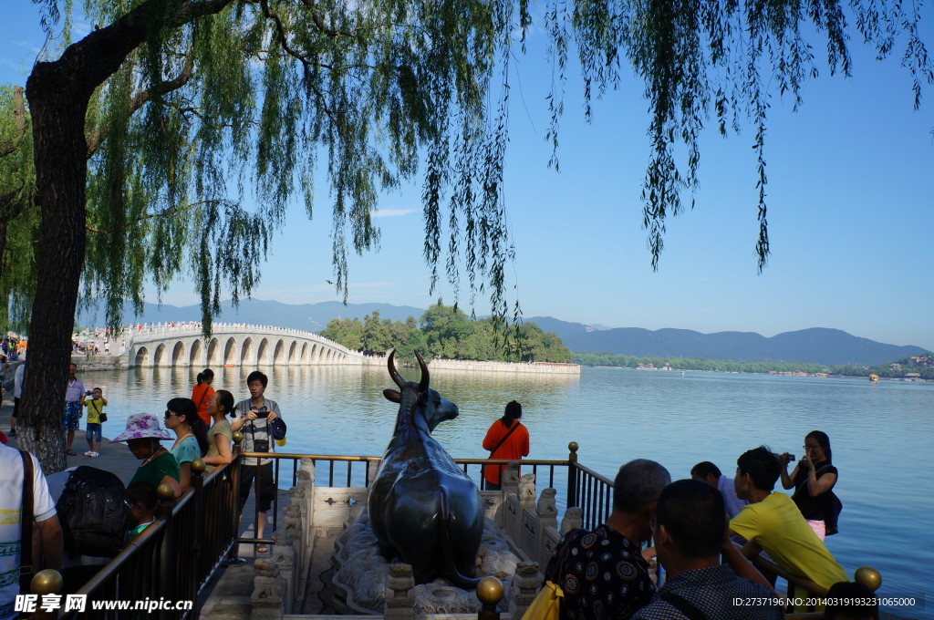
<path fill-rule="evenodd" d="M 57 28 L 58 0 L 35 3 L 45 27 Z M 347 252 L 378 240 L 370 211 L 379 192 L 420 175 L 432 286 L 437 265 L 456 282 L 463 264 L 472 293 L 487 292 L 494 315 L 506 317 L 509 63 L 533 17 L 555 68 L 547 135 L 556 152 L 569 54 L 587 102 L 630 70 L 644 81 L 654 265 L 666 218 L 697 183 L 701 129 L 714 121 L 726 133 L 747 120 L 757 128 L 765 264 L 767 111 L 773 92 L 797 101 L 816 74 L 809 39 L 823 42 L 831 73 L 849 74 L 847 41 L 857 34 L 880 56 L 898 47 L 916 98 L 931 80 L 918 9 L 893 0 L 851 0 L 845 10 L 839 0 L 556 0 L 540 15 L 528 0 L 83 4 L 92 32 L 35 63 L 26 101 L 15 88 L 0 92 L 0 284 L 11 302 L 0 312 L 23 322 L 31 307 L 19 428 L 47 472 L 64 466 L 61 403 L 79 293 L 105 299 L 116 325 L 147 278 L 163 289 L 185 273 L 209 324 L 222 289 L 250 291 L 286 205 L 301 198 L 311 214 L 319 169 L 337 289 L 346 291 Z M 248 194 L 259 204 L 252 210 Z"/>

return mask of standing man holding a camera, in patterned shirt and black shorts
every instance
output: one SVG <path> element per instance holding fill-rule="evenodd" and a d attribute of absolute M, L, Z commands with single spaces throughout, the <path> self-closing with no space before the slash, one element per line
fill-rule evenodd
<path fill-rule="evenodd" d="M 270 401 L 262 394 L 269 385 L 269 377 L 260 371 L 253 371 L 247 377 L 247 388 L 249 388 L 248 400 L 237 402 L 233 408 L 233 422 L 231 429 L 243 432 L 243 451 L 244 452 L 275 452 L 276 446 L 273 444 L 272 432 L 269 423 L 281 416 L 279 405 L 276 401 Z M 253 486 L 253 478 L 259 478 L 260 495 L 257 498 L 257 505 L 260 508 L 260 516 L 256 522 L 256 537 L 262 538 L 263 531 L 266 528 L 266 513 L 272 506 L 276 498 L 276 484 L 273 481 L 273 459 L 272 458 L 245 458 L 240 470 L 240 512 L 247 503 L 249 489 Z M 257 553 L 265 553 L 269 548 L 265 544 L 260 544 L 256 549 Z"/>

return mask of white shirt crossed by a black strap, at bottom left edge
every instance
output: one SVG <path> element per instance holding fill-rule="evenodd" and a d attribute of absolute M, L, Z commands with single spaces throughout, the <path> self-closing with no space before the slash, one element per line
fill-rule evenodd
<path fill-rule="evenodd" d="M 32 455 L 30 455 L 32 456 Z M 55 516 L 55 504 L 39 461 L 33 458 L 33 514 L 36 521 Z M 20 451 L 0 444 L 0 620 L 11 620 L 20 593 L 22 526 L 22 458 Z"/>

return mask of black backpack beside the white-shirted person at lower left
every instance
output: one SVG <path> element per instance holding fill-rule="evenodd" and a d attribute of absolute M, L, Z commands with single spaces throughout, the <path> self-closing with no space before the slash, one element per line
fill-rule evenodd
<path fill-rule="evenodd" d="M 55 504 L 64 532 L 64 548 L 83 556 L 115 557 L 130 528 L 133 503 L 112 472 L 82 465 Z"/>

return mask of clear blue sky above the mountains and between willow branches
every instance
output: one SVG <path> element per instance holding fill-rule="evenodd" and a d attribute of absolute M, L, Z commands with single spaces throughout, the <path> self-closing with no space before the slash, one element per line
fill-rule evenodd
<path fill-rule="evenodd" d="M 930 87 L 914 111 L 908 73 L 854 44 L 854 77 L 829 77 L 819 65 L 821 76 L 806 86 L 797 112 L 773 92 L 766 147 L 772 254 L 762 275 L 754 253 L 754 132 L 747 127 L 724 139 L 711 124 L 701 141 L 696 207 L 669 219 L 652 272 L 639 200 L 648 158 L 643 85 L 625 80 L 620 92 L 596 102 L 587 125 L 570 69 L 555 173 L 546 167 L 550 73 L 539 38 L 532 34 L 510 77 L 505 197 L 517 259 L 508 277 L 524 316 L 766 336 L 832 327 L 934 348 Z M 0 24 L 0 83 L 24 84 L 43 40 L 32 3 L 8 7 Z M 319 188 L 313 220 L 293 205 L 254 298 L 339 299 L 326 282 L 333 279 L 330 204 Z M 446 286 L 428 293 L 417 184 L 384 195 L 377 216 L 380 251 L 349 261 L 348 301 L 452 302 Z M 163 296 L 163 303 L 195 300 L 191 281 Z M 460 303 L 469 302 L 463 278 Z M 484 295 L 475 309 L 488 312 Z"/>

